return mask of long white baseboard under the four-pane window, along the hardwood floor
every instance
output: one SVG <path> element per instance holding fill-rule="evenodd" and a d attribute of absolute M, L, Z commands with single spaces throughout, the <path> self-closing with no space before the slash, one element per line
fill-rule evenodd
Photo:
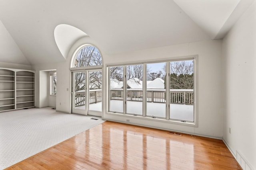
<path fill-rule="evenodd" d="M 202 135 L 202 134 L 198 134 L 198 133 L 190 133 L 190 132 L 187 132 L 187 131 L 177 131 L 176 129 L 165 129 L 165 128 L 160 128 L 160 127 L 155 127 L 155 126 L 150 126 L 150 125 L 141 125 L 141 124 L 125 122 L 125 121 L 116 121 L 114 119 L 105 119 L 104 118 L 103 120 L 114 121 L 114 122 L 119 122 L 119 123 L 126 123 L 126 124 L 129 124 L 129 125 L 137 125 L 137 126 L 142 126 L 142 127 L 150 127 L 150 128 L 161 129 L 161 130 L 165 130 L 165 131 L 175 131 L 175 132 L 184 133 L 184 134 L 188 134 L 188 135 L 195 135 L 195 136 L 200 136 L 200 137 L 208 137 L 208 138 L 212 138 L 212 139 L 222 140 L 222 137 L 215 137 L 215 136 L 210 136 L 210 135 Z"/>

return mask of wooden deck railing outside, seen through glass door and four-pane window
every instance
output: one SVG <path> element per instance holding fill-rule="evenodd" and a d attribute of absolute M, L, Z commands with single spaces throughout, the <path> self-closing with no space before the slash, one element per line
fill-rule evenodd
<path fill-rule="evenodd" d="M 126 100 L 142 102 L 142 90 L 127 89 Z M 111 89 L 110 100 L 124 100 L 123 89 Z M 164 89 L 147 90 L 147 102 L 165 103 L 166 91 Z M 102 90 L 90 90 L 89 103 L 98 103 L 102 101 Z M 75 93 L 75 106 L 85 104 L 85 93 Z M 170 104 L 194 104 L 194 90 L 192 89 L 170 89 Z"/>

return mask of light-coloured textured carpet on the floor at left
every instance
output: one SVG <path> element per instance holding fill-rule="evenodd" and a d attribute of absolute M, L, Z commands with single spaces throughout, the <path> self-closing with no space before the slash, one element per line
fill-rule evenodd
<path fill-rule="evenodd" d="M 104 120 L 50 107 L 0 113 L 0 169 L 69 139 Z"/>

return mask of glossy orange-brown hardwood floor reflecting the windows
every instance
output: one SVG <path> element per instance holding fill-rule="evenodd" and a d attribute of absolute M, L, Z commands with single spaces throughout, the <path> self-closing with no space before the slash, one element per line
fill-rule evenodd
<path fill-rule="evenodd" d="M 106 121 L 8 170 L 241 170 L 223 141 Z"/>

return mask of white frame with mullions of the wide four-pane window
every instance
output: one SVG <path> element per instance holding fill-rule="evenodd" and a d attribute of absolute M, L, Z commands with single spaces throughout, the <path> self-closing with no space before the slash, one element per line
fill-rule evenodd
<path fill-rule="evenodd" d="M 136 65 L 136 64 L 143 64 L 143 82 L 146 81 L 146 64 L 151 64 L 151 63 L 168 63 L 166 64 L 166 82 L 170 82 L 170 62 L 173 61 L 186 61 L 186 60 L 194 60 L 194 121 L 180 121 L 176 119 L 170 119 L 170 107 L 166 107 L 166 118 L 161 118 L 161 117 L 149 117 L 146 116 L 146 83 L 143 84 L 143 114 L 141 115 L 132 115 L 132 114 L 127 114 L 126 113 L 126 96 L 124 96 L 124 113 L 117 113 L 117 112 L 112 112 L 109 110 L 110 108 L 110 67 L 113 66 L 123 66 L 126 68 L 128 65 Z M 198 55 L 191 55 L 191 56 L 186 56 L 186 57 L 175 57 L 172 59 L 162 59 L 162 60 L 148 60 L 148 61 L 141 61 L 141 62 L 135 62 L 135 63 L 118 63 L 118 64 L 107 64 L 106 65 L 107 69 L 107 108 L 106 108 L 106 114 L 110 115 L 118 115 L 118 116 L 124 116 L 124 117 L 134 117 L 136 119 L 146 119 L 146 120 L 154 120 L 154 121 L 160 121 L 160 122 L 168 122 L 168 123 L 174 123 L 178 125 L 187 125 L 187 126 L 192 126 L 192 127 L 198 127 Z M 125 72 L 124 72 L 125 73 Z M 168 75 L 168 76 L 167 76 Z M 124 75 L 124 80 L 126 80 L 125 75 Z M 126 82 L 124 82 L 126 83 Z M 167 86 L 167 85 L 166 85 Z M 124 88 L 124 94 L 126 94 L 126 89 Z M 170 89 L 166 88 L 166 94 L 170 93 Z M 166 99 L 166 104 L 170 103 L 170 99 Z"/>

